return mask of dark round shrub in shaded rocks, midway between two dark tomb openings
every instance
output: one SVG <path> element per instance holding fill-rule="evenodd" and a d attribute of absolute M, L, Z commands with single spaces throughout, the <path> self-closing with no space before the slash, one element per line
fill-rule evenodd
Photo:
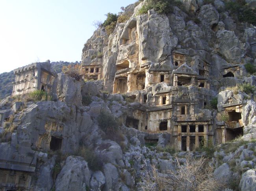
<path fill-rule="evenodd" d="M 106 134 L 115 134 L 119 127 L 115 117 L 107 111 L 101 111 L 98 116 L 98 124 Z"/>

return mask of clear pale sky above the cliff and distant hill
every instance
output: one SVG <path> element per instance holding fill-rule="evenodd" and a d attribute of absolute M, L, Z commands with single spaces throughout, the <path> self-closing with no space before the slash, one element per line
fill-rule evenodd
<path fill-rule="evenodd" d="M 0 0 L 0 73 L 32 62 L 81 60 L 93 21 L 137 0 Z"/>

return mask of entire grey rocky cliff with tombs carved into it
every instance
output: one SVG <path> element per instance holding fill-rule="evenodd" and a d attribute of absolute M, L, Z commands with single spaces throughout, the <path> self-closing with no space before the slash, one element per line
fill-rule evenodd
<path fill-rule="evenodd" d="M 225 3 L 124 8 L 83 47 L 98 80 L 18 69 L 50 92 L 0 102 L 0 190 L 254 191 L 256 29 Z"/>

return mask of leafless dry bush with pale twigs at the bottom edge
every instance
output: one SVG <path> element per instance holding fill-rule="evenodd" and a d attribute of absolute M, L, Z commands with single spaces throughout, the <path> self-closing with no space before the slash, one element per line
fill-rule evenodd
<path fill-rule="evenodd" d="M 186 156 L 186 164 L 182 165 L 177 157 L 176 172 L 168 171 L 160 174 L 152 166 L 152 172 L 145 177 L 143 191 L 218 191 L 224 185 L 213 176 L 213 169 L 208 166 L 206 158 L 196 160 Z"/>

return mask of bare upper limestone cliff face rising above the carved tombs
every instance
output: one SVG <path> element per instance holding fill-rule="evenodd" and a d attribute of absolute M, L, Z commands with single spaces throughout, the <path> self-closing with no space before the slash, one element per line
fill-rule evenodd
<path fill-rule="evenodd" d="M 99 62 L 98 58 L 91 60 L 90 56 L 94 51 L 103 49 L 102 79 L 105 90 L 112 92 L 115 89 L 115 76 L 119 76 L 116 72 L 122 68 L 127 71 L 129 68 L 129 73 L 145 73 L 147 87 L 147 82 L 150 82 L 148 71 L 175 69 L 174 51 L 206 59 L 212 67 L 218 68 L 210 73 L 219 80 L 223 75 L 223 64 L 229 63 L 231 67 L 240 64 L 243 67 L 247 62 L 255 63 L 252 42 L 256 40 L 256 31 L 253 25 L 237 25 L 228 12 L 217 11 L 224 7 L 222 1 L 208 5 L 196 1 L 183 3 L 187 11 L 195 12 L 199 20 L 197 24 L 193 21 L 195 19 L 178 7 L 173 7 L 173 12 L 168 15 L 159 15 L 153 10 L 137 15 L 139 8 L 145 4 L 141 2 L 135 7 L 132 17 L 124 23 L 118 23 L 109 36 L 105 29 L 95 31 L 83 48 L 82 60 L 87 64 L 95 62 L 95 59 Z M 99 46 L 100 43 L 102 45 Z M 134 83 L 133 78 L 132 75 L 128 76 L 128 84 Z M 131 86 L 128 85 L 128 92 L 139 89 Z"/>

